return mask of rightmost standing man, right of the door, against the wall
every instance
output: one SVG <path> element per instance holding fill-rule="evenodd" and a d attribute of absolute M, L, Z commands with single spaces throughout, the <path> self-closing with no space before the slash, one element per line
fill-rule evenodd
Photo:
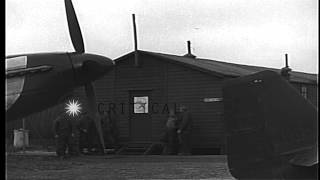
<path fill-rule="evenodd" d="M 180 141 L 179 155 L 191 155 L 192 117 L 184 105 L 179 108 L 178 136 Z"/>

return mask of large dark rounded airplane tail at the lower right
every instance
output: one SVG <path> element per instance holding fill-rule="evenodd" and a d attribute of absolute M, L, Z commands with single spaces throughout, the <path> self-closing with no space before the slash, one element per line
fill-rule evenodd
<path fill-rule="evenodd" d="M 228 166 L 236 178 L 282 178 L 287 166 L 318 164 L 318 110 L 278 73 L 223 87 Z"/>

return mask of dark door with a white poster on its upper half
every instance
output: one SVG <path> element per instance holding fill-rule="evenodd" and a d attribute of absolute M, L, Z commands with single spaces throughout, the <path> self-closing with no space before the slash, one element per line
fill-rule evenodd
<path fill-rule="evenodd" d="M 151 91 L 130 91 L 129 121 L 132 141 L 151 140 Z"/>

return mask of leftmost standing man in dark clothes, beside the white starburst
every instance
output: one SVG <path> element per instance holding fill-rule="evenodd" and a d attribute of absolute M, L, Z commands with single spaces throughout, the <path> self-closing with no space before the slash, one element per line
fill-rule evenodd
<path fill-rule="evenodd" d="M 71 130 L 72 127 L 68 115 L 65 112 L 61 112 L 54 121 L 53 131 L 56 139 L 56 153 L 62 159 L 66 157 L 66 150 L 69 148 Z"/>

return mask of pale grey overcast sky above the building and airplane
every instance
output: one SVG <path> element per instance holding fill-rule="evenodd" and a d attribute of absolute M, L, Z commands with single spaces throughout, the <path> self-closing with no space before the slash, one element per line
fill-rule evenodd
<path fill-rule="evenodd" d="M 6 0 L 6 55 L 73 52 L 63 0 Z M 318 0 L 73 0 L 85 51 L 138 49 L 318 73 Z"/>

